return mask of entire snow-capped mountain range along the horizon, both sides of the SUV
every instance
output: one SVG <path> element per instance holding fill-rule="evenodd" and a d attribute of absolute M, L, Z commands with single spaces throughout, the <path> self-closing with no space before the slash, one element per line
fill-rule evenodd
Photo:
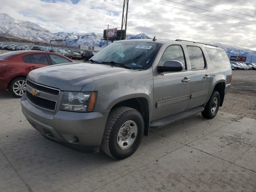
<path fill-rule="evenodd" d="M 78 47 L 80 45 L 104 47 L 106 46 L 106 41 L 103 40 L 103 34 L 91 33 L 67 33 L 58 32 L 53 34 L 49 30 L 42 28 L 38 24 L 16 20 L 15 18 L 9 16 L 8 14 L 0 13 L 0 34 L 14 36 L 26 40 L 31 40 L 34 42 L 44 42 L 49 43 L 50 40 L 64 39 L 67 41 L 68 46 Z M 150 39 L 144 33 L 137 35 L 127 34 L 126 39 Z M 244 49 L 236 46 L 229 46 L 222 43 L 216 43 L 220 48 L 223 48 L 228 58 L 230 56 L 247 56 L 247 62 L 256 62 L 256 51 Z"/>

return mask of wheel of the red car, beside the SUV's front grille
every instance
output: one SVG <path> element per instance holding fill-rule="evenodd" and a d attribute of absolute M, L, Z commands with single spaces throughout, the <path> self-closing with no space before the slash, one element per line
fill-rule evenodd
<path fill-rule="evenodd" d="M 14 78 L 8 87 L 9 92 L 17 98 L 21 98 L 26 92 L 26 78 L 17 77 Z"/>

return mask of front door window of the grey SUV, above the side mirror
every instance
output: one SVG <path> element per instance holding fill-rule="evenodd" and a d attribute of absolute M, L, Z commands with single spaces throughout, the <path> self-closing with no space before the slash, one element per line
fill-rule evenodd
<path fill-rule="evenodd" d="M 183 64 L 183 70 L 187 69 L 183 50 L 182 50 L 181 46 L 171 45 L 168 48 L 166 48 L 166 50 L 164 51 L 164 54 L 162 55 L 162 57 L 160 59 L 159 65 L 163 66 L 164 62 L 171 61 L 171 60 L 176 60 L 176 61 L 181 62 Z"/>

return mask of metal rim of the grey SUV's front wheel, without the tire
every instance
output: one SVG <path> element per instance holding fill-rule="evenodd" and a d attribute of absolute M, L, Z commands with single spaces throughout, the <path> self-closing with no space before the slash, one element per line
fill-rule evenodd
<path fill-rule="evenodd" d="M 117 144 L 122 150 L 128 149 L 135 142 L 138 133 L 138 126 L 133 120 L 122 124 L 117 134 Z"/>

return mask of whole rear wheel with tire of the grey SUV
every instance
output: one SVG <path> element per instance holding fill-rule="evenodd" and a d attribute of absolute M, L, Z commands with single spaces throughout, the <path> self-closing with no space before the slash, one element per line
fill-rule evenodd
<path fill-rule="evenodd" d="M 220 93 L 215 91 L 212 93 L 211 98 L 207 102 L 204 107 L 204 111 L 202 111 L 202 116 L 207 119 L 212 119 L 218 113 L 220 107 Z"/>

